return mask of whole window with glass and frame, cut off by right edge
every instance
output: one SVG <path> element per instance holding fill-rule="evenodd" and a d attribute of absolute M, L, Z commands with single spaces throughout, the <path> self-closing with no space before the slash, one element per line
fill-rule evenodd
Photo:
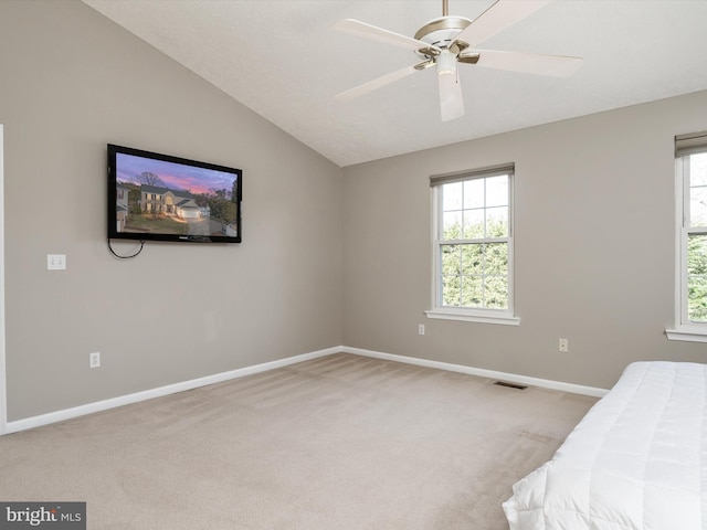
<path fill-rule="evenodd" d="M 707 342 L 707 131 L 675 137 L 674 340 Z"/>

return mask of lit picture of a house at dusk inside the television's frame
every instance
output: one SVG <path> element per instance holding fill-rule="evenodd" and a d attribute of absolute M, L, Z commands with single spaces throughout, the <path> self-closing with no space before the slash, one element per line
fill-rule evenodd
<path fill-rule="evenodd" d="M 118 153 L 118 232 L 239 235 L 239 176 Z"/>

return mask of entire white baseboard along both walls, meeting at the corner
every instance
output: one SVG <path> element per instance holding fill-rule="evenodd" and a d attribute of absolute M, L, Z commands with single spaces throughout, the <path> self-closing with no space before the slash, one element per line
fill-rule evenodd
<path fill-rule="evenodd" d="M 289 364 L 296 364 L 297 362 L 309 361 L 312 359 L 317 359 L 319 357 L 330 356 L 334 353 L 354 353 L 362 357 L 371 357 L 376 359 L 384 359 L 388 361 L 404 362 L 407 364 L 416 364 L 420 367 L 436 368 L 439 370 L 447 370 L 450 372 L 461 372 L 469 375 L 478 375 L 478 377 L 488 378 L 488 379 L 499 379 L 499 380 L 508 381 L 513 383 L 528 384 L 528 385 L 540 386 L 540 388 L 550 389 L 550 390 L 559 390 L 562 392 L 571 392 L 573 394 L 591 395 L 594 398 L 601 398 L 608 392 L 604 389 L 597 389 L 593 386 L 582 386 L 579 384 L 550 381 L 547 379 L 528 378 L 526 375 L 517 375 L 515 373 L 496 372 L 493 370 L 464 367 L 462 364 L 452 364 L 449 362 L 430 361 L 426 359 L 418 359 L 414 357 L 395 356 L 392 353 L 382 353 L 379 351 L 363 350 L 361 348 L 349 348 L 346 346 L 336 346 L 336 347 L 327 348 L 324 350 L 303 353 L 300 356 L 279 359 L 277 361 L 264 362 L 262 364 L 255 364 L 253 367 L 231 370 L 229 372 L 215 373 L 213 375 L 192 379 L 190 381 L 183 381 L 181 383 L 168 384 L 166 386 L 159 386 L 152 390 L 136 392 L 134 394 L 122 395 L 118 398 L 112 398 L 109 400 L 103 400 L 94 403 L 87 403 L 85 405 L 74 406 L 72 409 L 65 409 L 63 411 L 50 412 L 48 414 L 41 414 L 39 416 L 32 416 L 32 417 L 27 417 L 24 420 L 8 422 L 4 425 L 6 428 L 3 434 L 17 433 L 20 431 L 27 431 L 28 428 L 49 425 L 51 423 L 64 422 L 66 420 L 84 416 L 86 414 L 107 411 L 109 409 L 115 409 L 123 405 L 129 405 L 131 403 L 138 403 L 140 401 L 151 400 L 154 398 L 161 398 L 169 394 L 176 394 L 177 392 L 184 392 L 187 390 L 192 390 L 200 386 L 207 386 L 209 384 L 221 383 L 223 381 L 230 381 L 232 379 L 239 379 L 245 375 L 261 373 L 268 370 L 274 370 L 276 368 L 287 367 Z M 0 431 L 0 433 L 2 431 Z"/>

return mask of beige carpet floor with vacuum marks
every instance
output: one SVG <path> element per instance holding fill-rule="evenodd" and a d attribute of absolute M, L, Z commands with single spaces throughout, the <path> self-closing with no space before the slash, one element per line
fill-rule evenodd
<path fill-rule="evenodd" d="M 0 500 L 92 530 L 507 530 L 597 400 L 334 354 L 0 437 Z"/>

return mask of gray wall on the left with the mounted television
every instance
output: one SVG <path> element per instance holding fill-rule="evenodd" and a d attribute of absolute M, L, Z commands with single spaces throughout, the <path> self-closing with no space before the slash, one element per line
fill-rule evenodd
<path fill-rule="evenodd" d="M 341 343 L 338 167 L 80 2 L 0 2 L 0 67 L 9 421 Z M 107 142 L 243 169 L 243 243 L 113 257 Z"/>

